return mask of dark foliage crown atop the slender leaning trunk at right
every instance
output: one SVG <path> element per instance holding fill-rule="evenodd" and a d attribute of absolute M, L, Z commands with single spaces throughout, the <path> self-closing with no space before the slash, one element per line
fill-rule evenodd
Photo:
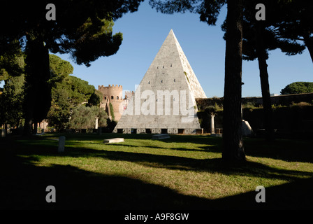
<path fill-rule="evenodd" d="M 263 3 L 265 6 L 265 20 L 255 19 L 255 6 Z M 275 29 L 279 21 L 283 21 L 286 13 L 286 5 L 279 0 L 250 0 L 245 1 L 244 20 L 243 20 L 243 59 L 254 60 L 260 57 L 263 50 L 264 59 L 268 59 L 270 50 L 280 49 L 286 55 L 300 54 L 305 50 L 301 43 L 283 38 Z M 260 49 L 259 49 L 260 48 Z M 262 49 L 261 49 L 262 48 Z"/>

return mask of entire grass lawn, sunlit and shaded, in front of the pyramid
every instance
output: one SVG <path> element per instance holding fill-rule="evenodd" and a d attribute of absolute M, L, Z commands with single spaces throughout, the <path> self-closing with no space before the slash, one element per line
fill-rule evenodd
<path fill-rule="evenodd" d="M 0 139 L 1 209 L 312 209 L 313 141 L 245 139 L 245 165 L 219 137 L 58 134 Z M 103 139 L 125 141 L 103 144 Z M 47 186 L 56 203 L 47 203 Z M 265 203 L 256 203 L 256 186 Z"/>

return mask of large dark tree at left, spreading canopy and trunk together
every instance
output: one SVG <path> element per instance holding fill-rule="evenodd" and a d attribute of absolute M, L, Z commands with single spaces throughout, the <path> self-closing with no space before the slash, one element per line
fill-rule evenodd
<path fill-rule="evenodd" d="M 142 1 L 57 0 L 56 20 L 46 19 L 50 1 L 1 1 L 0 48 L 11 45 L 6 52 L 14 52 L 19 43 L 27 55 L 24 134 L 31 133 L 32 123 L 45 118 L 51 106 L 49 51 L 69 53 L 86 66 L 115 54 L 122 34 L 112 34 L 112 21 L 138 10 Z"/>

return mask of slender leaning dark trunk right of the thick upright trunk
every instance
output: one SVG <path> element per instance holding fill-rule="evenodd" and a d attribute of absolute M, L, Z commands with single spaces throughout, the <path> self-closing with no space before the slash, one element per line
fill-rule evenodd
<path fill-rule="evenodd" d="M 263 43 L 263 27 L 261 21 L 256 25 L 256 54 L 258 55 L 261 91 L 263 99 L 265 139 L 274 140 L 274 130 L 272 127 L 272 102 L 270 100 L 270 84 L 268 83 L 268 57 Z"/>

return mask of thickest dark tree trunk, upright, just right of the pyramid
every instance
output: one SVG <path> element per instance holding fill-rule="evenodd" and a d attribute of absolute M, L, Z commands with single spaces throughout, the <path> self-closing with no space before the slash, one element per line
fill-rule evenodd
<path fill-rule="evenodd" d="M 228 162 L 245 161 L 241 114 L 242 11 L 242 0 L 227 1 L 222 158 Z"/>

